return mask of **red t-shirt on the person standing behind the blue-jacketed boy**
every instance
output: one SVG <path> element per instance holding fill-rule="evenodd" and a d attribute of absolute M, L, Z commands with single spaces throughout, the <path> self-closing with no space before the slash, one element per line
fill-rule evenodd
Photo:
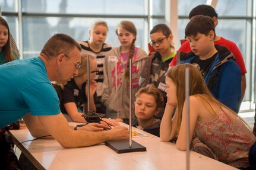
<path fill-rule="evenodd" d="M 220 45 L 220 46 L 226 47 L 230 52 L 234 54 L 236 58 L 236 63 L 241 69 L 241 74 L 244 74 L 247 72 L 242 53 L 240 52 L 240 50 L 238 49 L 238 46 L 236 46 L 235 43 L 227 39 L 224 39 L 223 37 L 220 37 L 220 40 L 214 41 L 214 45 Z M 178 51 L 184 52 L 184 53 L 191 52 L 189 41 L 185 41 Z M 175 66 L 175 65 L 176 65 L 176 56 L 172 59 L 172 62 L 170 62 L 169 66 Z"/>

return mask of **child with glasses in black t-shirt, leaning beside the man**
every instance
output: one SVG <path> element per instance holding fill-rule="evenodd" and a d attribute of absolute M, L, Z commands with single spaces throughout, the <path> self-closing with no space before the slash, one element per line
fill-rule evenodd
<path fill-rule="evenodd" d="M 90 111 L 96 112 L 94 103 L 97 82 L 94 80 L 96 73 L 99 71 L 97 62 L 94 56 L 90 57 Z M 53 85 L 58 93 L 61 112 L 68 121 L 86 123 L 82 117 L 83 109 L 87 113 L 87 54 L 81 54 L 81 68 L 78 75 L 75 76 L 66 85 Z M 84 108 L 83 108 L 84 107 Z M 103 118 L 111 126 L 119 125 L 115 120 Z"/>

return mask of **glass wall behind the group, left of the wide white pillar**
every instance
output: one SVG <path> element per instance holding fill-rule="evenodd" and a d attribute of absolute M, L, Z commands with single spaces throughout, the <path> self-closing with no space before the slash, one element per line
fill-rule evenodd
<path fill-rule="evenodd" d="M 23 58 L 36 57 L 43 44 L 55 33 L 69 34 L 76 40 L 88 40 L 90 24 L 94 20 L 108 23 L 106 43 L 113 46 L 119 46 L 116 25 L 122 20 L 132 21 L 137 28 L 135 44 L 147 52 L 148 29 L 152 27 L 149 24 L 165 22 L 164 4 L 165 0 L 23 0 L 20 12 Z M 0 0 L 0 5 L 18 43 L 18 1 Z"/>

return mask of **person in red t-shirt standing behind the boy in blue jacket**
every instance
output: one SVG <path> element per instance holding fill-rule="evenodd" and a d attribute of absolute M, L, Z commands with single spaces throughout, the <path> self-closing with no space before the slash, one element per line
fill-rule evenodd
<path fill-rule="evenodd" d="M 215 27 L 217 26 L 218 14 L 216 13 L 215 9 L 210 5 L 198 5 L 197 7 L 193 8 L 189 13 L 189 20 L 191 20 L 196 15 L 205 15 L 213 18 L 214 25 Z M 247 72 L 242 53 L 240 52 L 240 50 L 238 49 L 238 46 L 236 46 L 235 43 L 233 43 L 232 41 L 226 40 L 223 37 L 219 37 L 217 35 L 215 35 L 214 37 L 214 44 L 226 47 L 235 56 L 236 63 L 241 69 L 241 100 L 242 100 L 245 94 L 245 88 L 246 88 L 245 73 Z M 190 52 L 191 48 L 189 46 L 189 41 L 185 41 L 185 43 L 183 43 L 182 46 L 179 48 L 179 51 L 184 53 Z M 170 66 L 175 66 L 175 65 L 176 65 L 176 56 L 173 58 L 172 62 L 170 62 Z"/>

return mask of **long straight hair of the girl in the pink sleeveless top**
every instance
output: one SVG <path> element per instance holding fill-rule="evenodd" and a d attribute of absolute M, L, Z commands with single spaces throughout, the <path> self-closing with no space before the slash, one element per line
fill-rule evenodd
<path fill-rule="evenodd" d="M 179 134 L 179 129 L 181 128 L 181 120 L 182 120 L 182 110 L 185 102 L 185 69 L 189 68 L 189 96 L 194 95 L 199 98 L 199 100 L 204 104 L 207 110 L 210 113 L 214 113 L 213 107 L 219 107 L 220 110 L 226 108 L 230 113 L 238 116 L 234 111 L 230 108 L 226 107 L 226 105 L 222 104 L 216 98 L 211 95 L 211 92 L 208 90 L 206 82 L 204 81 L 203 76 L 201 75 L 198 68 L 189 63 L 183 65 L 176 65 L 171 67 L 166 76 L 172 79 L 173 83 L 176 86 L 176 97 L 178 101 L 178 123 L 177 123 L 177 134 Z M 177 113 L 176 113 L 177 114 Z"/>

